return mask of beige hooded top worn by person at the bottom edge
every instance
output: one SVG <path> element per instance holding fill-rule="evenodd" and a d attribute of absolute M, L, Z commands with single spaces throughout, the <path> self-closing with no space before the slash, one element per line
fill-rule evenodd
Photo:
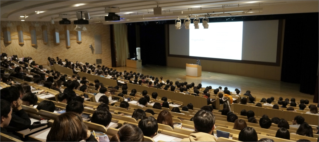
<path fill-rule="evenodd" d="M 189 135 L 189 138 L 184 138 L 182 141 L 216 141 L 214 135 L 203 132 L 193 132 Z"/>

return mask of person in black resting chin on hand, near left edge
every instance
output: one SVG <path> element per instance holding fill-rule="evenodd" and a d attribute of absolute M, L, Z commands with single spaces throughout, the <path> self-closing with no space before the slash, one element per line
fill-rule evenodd
<path fill-rule="evenodd" d="M 9 125 L 6 127 L 7 131 L 21 131 L 29 128 L 31 120 L 28 114 L 22 109 L 20 100 L 20 93 L 15 87 L 6 87 L 0 90 L 0 98 L 8 101 L 12 108 L 12 117 Z"/>

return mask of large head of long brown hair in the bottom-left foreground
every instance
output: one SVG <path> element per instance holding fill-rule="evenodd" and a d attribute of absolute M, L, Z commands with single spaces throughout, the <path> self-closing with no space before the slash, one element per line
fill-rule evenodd
<path fill-rule="evenodd" d="M 75 112 L 66 112 L 56 117 L 48 133 L 47 142 L 80 141 L 87 137 L 87 125 Z"/>

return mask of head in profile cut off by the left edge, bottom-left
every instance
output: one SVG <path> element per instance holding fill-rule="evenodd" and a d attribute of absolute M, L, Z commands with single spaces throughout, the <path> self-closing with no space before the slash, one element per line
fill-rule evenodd
<path fill-rule="evenodd" d="M 12 114 L 12 109 L 11 109 L 11 104 L 10 102 L 0 99 L 0 115 L 1 115 L 1 127 L 6 127 L 9 125 L 10 120 L 11 120 L 11 114 Z"/>

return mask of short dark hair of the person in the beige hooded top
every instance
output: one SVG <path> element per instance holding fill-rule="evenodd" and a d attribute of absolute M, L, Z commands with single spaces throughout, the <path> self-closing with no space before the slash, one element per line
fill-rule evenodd
<path fill-rule="evenodd" d="M 209 133 L 215 125 L 215 117 L 212 112 L 199 110 L 195 114 L 194 127 L 196 131 Z"/>

